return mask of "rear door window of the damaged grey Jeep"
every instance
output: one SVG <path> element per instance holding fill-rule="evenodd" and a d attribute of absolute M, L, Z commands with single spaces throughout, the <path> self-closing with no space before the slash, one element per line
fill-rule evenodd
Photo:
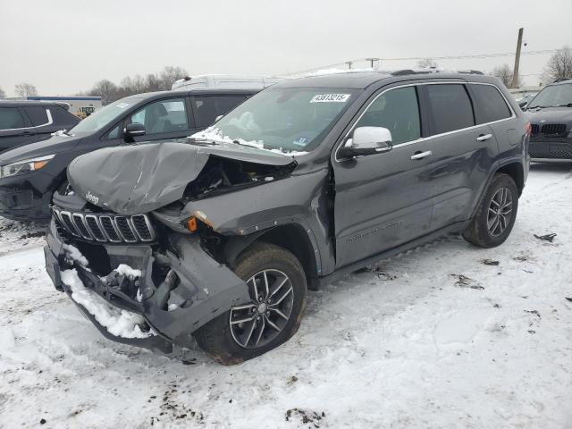
<path fill-rule="evenodd" d="M 463 85 L 426 85 L 425 88 L 433 111 L 434 134 L 475 125 L 473 106 Z"/>

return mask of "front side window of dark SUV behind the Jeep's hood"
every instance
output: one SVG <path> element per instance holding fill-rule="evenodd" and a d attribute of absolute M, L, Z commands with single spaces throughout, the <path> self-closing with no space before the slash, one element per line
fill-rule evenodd
<path fill-rule="evenodd" d="M 130 122 L 145 125 L 147 136 L 189 130 L 185 100 L 172 98 L 146 105 L 130 117 Z"/>

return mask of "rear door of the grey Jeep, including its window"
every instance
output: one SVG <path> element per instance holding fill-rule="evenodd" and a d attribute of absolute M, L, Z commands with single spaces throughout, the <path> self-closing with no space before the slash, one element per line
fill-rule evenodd
<path fill-rule="evenodd" d="M 467 220 L 498 154 L 492 129 L 476 124 L 466 83 L 425 84 L 431 151 L 428 180 L 433 189 L 432 230 Z"/>

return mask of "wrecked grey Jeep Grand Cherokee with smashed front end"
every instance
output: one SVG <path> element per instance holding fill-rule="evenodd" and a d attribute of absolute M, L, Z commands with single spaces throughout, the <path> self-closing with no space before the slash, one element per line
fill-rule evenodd
<path fill-rule="evenodd" d="M 46 267 L 108 338 L 223 364 L 297 330 L 307 289 L 515 223 L 529 124 L 499 80 L 341 73 L 265 89 L 187 141 L 107 147 L 55 193 Z"/>

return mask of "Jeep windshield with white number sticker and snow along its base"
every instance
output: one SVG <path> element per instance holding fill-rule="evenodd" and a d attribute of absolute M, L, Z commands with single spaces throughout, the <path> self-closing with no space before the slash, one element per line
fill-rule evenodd
<path fill-rule="evenodd" d="M 192 137 L 302 155 L 320 144 L 355 96 L 347 88 L 268 88 Z"/>

